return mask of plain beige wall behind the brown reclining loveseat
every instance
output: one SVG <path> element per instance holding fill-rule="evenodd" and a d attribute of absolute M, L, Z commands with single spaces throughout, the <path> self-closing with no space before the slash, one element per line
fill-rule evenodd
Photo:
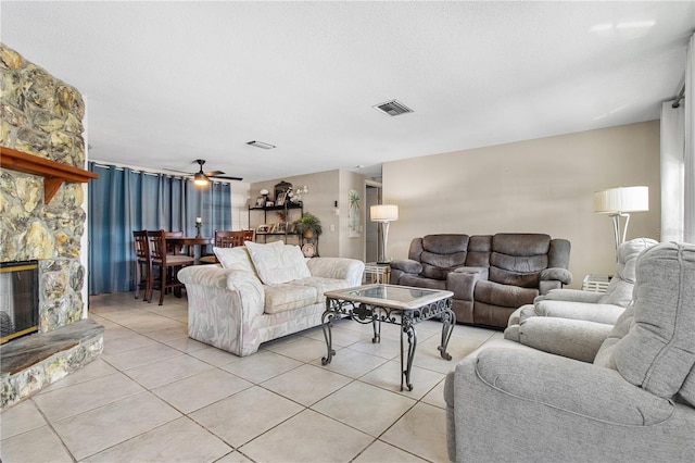
<path fill-rule="evenodd" d="M 383 202 L 400 205 L 389 254 L 404 259 L 427 234 L 546 233 L 572 243 L 572 287 L 612 274 L 611 221 L 593 192 L 649 187 L 649 212 L 631 217 L 628 239 L 659 239 L 659 122 L 631 124 L 383 164 Z"/>

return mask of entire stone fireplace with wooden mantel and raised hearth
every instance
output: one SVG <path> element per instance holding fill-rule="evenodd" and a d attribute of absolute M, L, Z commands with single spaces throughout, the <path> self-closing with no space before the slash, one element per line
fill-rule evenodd
<path fill-rule="evenodd" d="M 96 359 L 103 327 L 83 318 L 83 97 L 2 43 L 0 76 L 0 262 L 38 262 L 38 333 L 0 347 L 4 409 Z"/>

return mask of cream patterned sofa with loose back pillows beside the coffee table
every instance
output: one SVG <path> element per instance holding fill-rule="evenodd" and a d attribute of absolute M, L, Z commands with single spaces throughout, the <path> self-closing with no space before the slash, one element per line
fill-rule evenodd
<path fill-rule="evenodd" d="M 214 251 L 219 265 L 178 273 L 188 295 L 188 336 L 240 356 L 320 325 L 324 292 L 359 286 L 365 266 L 354 259 L 305 259 L 282 241 Z"/>

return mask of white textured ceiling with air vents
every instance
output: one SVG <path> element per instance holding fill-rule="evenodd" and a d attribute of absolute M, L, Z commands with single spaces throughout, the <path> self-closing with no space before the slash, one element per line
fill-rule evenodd
<path fill-rule="evenodd" d="M 658 118 L 695 30 L 694 1 L 3 0 L 0 14 L 2 42 L 87 97 L 91 159 L 203 158 L 244 182 Z M 415 112 L 371 108 L 394 98 Z"/>

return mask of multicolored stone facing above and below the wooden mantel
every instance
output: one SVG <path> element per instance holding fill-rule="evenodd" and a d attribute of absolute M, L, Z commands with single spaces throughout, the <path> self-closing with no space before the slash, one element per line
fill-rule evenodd
<path fill-rule="evenodd" d="M 85 167 L 85 103 L 72 86 L 0 43 L 0 146 Z M 41 177 L 0 168 L 0 261 L 40 261 L 41 331 L 81 317 L 83 187 L 43 203 Z"/>

